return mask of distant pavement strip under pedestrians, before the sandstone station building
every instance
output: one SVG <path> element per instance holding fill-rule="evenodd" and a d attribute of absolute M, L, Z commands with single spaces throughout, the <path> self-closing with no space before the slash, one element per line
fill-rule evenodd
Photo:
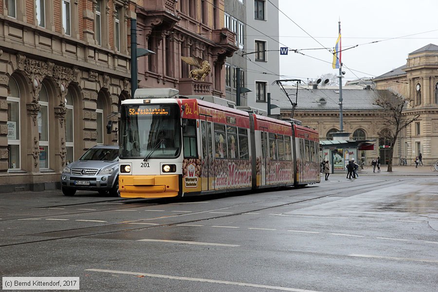
<path fill-rule="evenodd" d="M 397 165 L 392 166 L 392 172 L 387 171 L 388 167 L 386 165 L 380 166 L 380 172 L 373 173 L 373 167 L 368 166 L 365 170 L 359 170 L 358 174 L 361 175 L 393 175 L 393 176 L 437 176 L 438 177 L 438 171 L 431 171 L 430 165 L 424 165 L 419 166 L 418 168 L 415 168 L 415 166 L 407 166 L 407 165 Z M 335 172 L 332 175 L 347 175 L 347 170 L 344 172 Z M 330 174 L 331 175 L 331 174 Z"/>

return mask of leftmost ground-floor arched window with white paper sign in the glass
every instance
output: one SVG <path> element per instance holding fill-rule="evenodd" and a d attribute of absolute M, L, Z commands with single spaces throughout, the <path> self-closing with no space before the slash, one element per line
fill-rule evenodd
<path fill-rule="evenodd" d="M 14 77 L 9 78 L 8 97 L 8 168 L 20 168 L 20 92 Z"/>

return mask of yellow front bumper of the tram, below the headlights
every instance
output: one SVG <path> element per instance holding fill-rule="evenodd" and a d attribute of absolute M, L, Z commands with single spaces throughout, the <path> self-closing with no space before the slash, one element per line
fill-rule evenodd
<path fill-rule="evenodd" d="M 119 175 L 122 198 L 168 198 L 178 196 L 178 175 Z"/>

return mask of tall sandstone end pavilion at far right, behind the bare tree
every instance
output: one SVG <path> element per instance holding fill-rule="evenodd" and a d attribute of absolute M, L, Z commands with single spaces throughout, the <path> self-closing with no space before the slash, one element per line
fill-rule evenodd
<path fill-rule="evenodd" d="M 404 111 L 420 118 L 402 131 L 394 157 L 408 164 L 419 153 L 424 164 L 438 160 L 438 46 L 428 44 L 407 57 L 406 64 L 373 79 L 377 89 L 386 89 L 411 100 Z"/>

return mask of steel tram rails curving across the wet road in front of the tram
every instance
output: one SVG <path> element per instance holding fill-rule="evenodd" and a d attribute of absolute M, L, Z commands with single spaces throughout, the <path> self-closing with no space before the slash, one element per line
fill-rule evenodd
<path fill-rule="evenodd" d="M 392 185 L 392 184 L 398 184 L 398 183 L 400 183 L 401 181 L 404 181 L 404 180 L 405 179 L 391 180 L 391 183 L 389 183 L 389 184 L 387 183 L 388 180 L 384 180 L 384 181 L 380 181 L 380 182 L 376 182 L 376 183 L 366 184 L 366 187 L 367 187 L 367 189 L 369 189 L 371 191 L 372 188 L 377 188 L 377 187 L 380 187 L 380 186 L 389 186 L 389 185 Z M 1 247 L 8 247 L 8 246 L 22 245 L 22 244 L 28 244 L 28 243 L 39 243 L 39 242 L 53 241 L 53 240 L 59 240 L 59 239 L 70 239 L 70 238 L 98 236 L 98 235 L 111 234 L 111 233 L 119 233 L 119 232 L 144 230 L 144 229 L 157 228 L 157 227 L 173 226 L 173 225 L 178 225 L 178 224 L 188 224 L 188 223 L 200 222 L 200 221 L 211 220 L 211 219 L 220 219 L 220 218 L 234 217 L 234 216 L 239 216 L 239 215 L 242 215 L 242 214 L 245 214 L 245 213 L 250 213 L 250 212 L 258 212 L 258 211 L 278 208 L 278 207 L 287 206 L 287 205 L 299 204 L 299 203 L 304 203 L 304 202 L 309 202 L 309 201 L 316 201 L 316 200 L 319 200 L 319 199 L 328 198 L 328 197 L 332 197 L 332 196 L 335 196 L 335 195 L 343 194 L 346 189 L 352 195 L 355 195 L 357 191 L 362 191 L 363 192 L 364 185 L 354 185 L 354 186 L 348 185 L 348 186 L 345 186 L 345 187 L 337 187 L 337 188 L 334 188 L 334 189 L 331 189 L 331 190 L 327 190 L 328 192 L 335 191 L 333 193 L 330 192 L 329 194 L 325 194 L 325 195 L 321 195 L 321 196 L 317 196 L 317 197 L 312 197 L 312 198 L 308 198 L 308 199 L 303 199 L 303 200 L 298 200 L 298 201 L 292 201 L 292 202 L 277 204 L 277 205 L 274 205 L 274 206 L 268 206 L 268 207 L 263 207 L 263 208 L 246 210 L 246 211 L 236 212 L 236 213 L 232 213 L 232 214 L 223 214 L 223 215 L 212 216 L 212 217 L 201 218 L 201 219 L 179 220 L 177 222 L 165 223 L 165 224 L 159 224 L 159 225 L 133 227 L 133 228 L 122 228 L 122 229 L 118 229 L 118 230 L 110 230 L 110 231 L 102 231 L 102 232 L 91 232 L 91 233 L 80 234 L 80 235 L 73 235 L 73 236 L 61 236 L 61 237 L 55 237 L 55 238 L 29 240 L 29 241 L 25 241 L 25 242 L 16 242 L 16 243 L 11 243 L 11 244 L 3 244 L 3 245 L 0 245 L 0 248 Z M 309 195 L 317 194 L 317 193 L 321 193 L 321 190 L 318 189 L 318 191 L 306 192 L 304 194 L 299 194 L 299 196 L 309 196 Z M 197 215 L 197 214 L 209 213 L 209 212 L 213 212 L 213 211 L 219 211 L 219 210 L 228 209 L 230 207 L 235 207 L 235 206 L 241 207 L 241 206 L 244 206 L 244 205 L 258 204 L 258 203 L 264 203 L 264 202 L 270 202 L 270 201 L 276 201 L 276 200 L 284 200 L 285 198 L 292 198 L 292 197 L 297 197 L 297 195 L 282 196 L 280 198 L 273 198 L 273 199 L 269 199 L 269 200 L 244 202 L 244 203 L 236 204 L 236 205 L 233 205 L 233 206 L 226 206 L 226 207 L 221 207 L 221 208 L 203 210 L 203 211 L 193 212 L 193 213 L 189 213 L 189 214 L 188 213 L 184 213 L 184 214 L 177 214 L 177 215 L 172 215 L 172 216 L 163 216 L 163 217 L 151 218 L 151 219 L 130 220 L 130 221 L 122 221 L 122 222 L 109 223 L 109 224 L 91 225 L 91 226 L 86 226 L 86 227 L 75 227 L 75 228 L 58 229 L 58 230 L 52 230 L 52 231 L 43 231 L 43 232 L 35 232 L 35 233 L 18 234 L 18 235 L 14 235 L 14 237 L 24 237 L 24 236 L 34 236 L 34 237 L 36 237 L 38 235 L 39 236 L 48 236 L 50 234 L 54 234 L 55 235 L 55 233 L 72 232 L 72 231 L 86 231 L 87 229 L 95 229 L 95 228 L 104 229 L 104 228 L 108 228 L 108 227 L 121 226 L 122 224 L 144 222 L 145 220 L 164 219 L 164 218 L 168 219 L 168 218 L 179 218 L 179 217 L 183 218 L 184 216 L 193 216 L 193 215 Z M 159 203 L 159 204 L 150 204 L 150 205 L 157 206 L 157 205 L 166 205 L 166 204 L 168 204 L 168 203 Z M 132 207 L 132 208 L 134 208 L 134 207 Z M 138 208 L 138 206 L 135 206 L 135 208 Z M 112 210 L 100 210 L 100 211 L 97 211 L 97 212 L 104 212 L 104 211 L 106 212 L 106 211 L 113 211 L 113 210 L 120 210 L 120 209 L 124 209 L 124 208 L 115 208 L 115 209 L 112 209 Z M 90 212 L 90 213 L 96 213 L 96 211 Z M 67 216 L 67 215 L 76 215 L 76 214 L 83 214 L 83 212 L 77 212 L 77 213 L 71 213 L 71 214 L 62 214 L 62 215 L 56 215 L 56 216 Z M 53 217 L 53 216 L 54 215 L 51 215 L 51 217 Z M 49 217 L 49 216 L 44 216 L 44 217 Z M 40 217 L 34 217 L 34 218 L 40 218 Z"/>

